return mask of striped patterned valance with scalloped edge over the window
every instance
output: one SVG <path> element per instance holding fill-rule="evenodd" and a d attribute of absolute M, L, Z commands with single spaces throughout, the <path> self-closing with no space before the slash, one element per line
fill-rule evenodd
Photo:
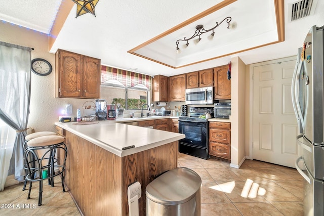
<path fill-rule="evenodd" d="M 109 79 L 116 79 L 127 88 L 132 88 L 137 84 L 143 84 L 148 89 L 151 89 L 151 76 L 149 75 L 101 65 L 101 83 Z"/>

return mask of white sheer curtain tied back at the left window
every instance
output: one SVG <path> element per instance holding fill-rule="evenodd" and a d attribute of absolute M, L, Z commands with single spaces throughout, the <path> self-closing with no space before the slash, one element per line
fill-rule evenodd
<path fill-rule="evenodd" d="M 0 41 L 0 118 L 17 132 L 13 136 L 8 128 L 2 127 L 0 191 L 4 190 L 8 175 L 15 174 L 18 181 L 23 181 L 25 175 L 23 144 L 30 102 L 30 52 L 30 48 Z M 15 141 L 11 148 L 10 140 L 13 138 Z"/>

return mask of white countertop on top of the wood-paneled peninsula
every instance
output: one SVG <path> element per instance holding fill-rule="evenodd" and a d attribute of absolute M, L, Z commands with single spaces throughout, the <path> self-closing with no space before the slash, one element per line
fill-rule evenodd
<path fill-rule="evenodd" d="M 169 118 L 161 117 L 160 118 Z M 158 117 L 142 118 L 143 120 Z M 131 119 L 131 118 L 130 118 Z M 137 121 L 137 118 L 132 118 Z M 124 118 L 124 122 L 130 121 Z M 122 122 L 116 120 L 116 122 Z M 119 156 L 124 157 L 185 138 L 185 135 L 150 129 L 146 127 L 120 124 L 104 120 L 89 125 L 74 125 L 76 122 L 55 122 L 55 125 L 88 140 L 91 143 Z M 122 150 L 123 147 L 135 145 L 135 148 Z"/>

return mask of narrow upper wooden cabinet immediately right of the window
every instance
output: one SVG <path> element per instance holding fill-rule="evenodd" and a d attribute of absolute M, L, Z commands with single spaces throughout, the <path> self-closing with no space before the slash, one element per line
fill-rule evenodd
<path fill-rule="evenodd" d="M 152 79 L 153 101 L 168 101 L 168 77 L 156 75 Z"/>

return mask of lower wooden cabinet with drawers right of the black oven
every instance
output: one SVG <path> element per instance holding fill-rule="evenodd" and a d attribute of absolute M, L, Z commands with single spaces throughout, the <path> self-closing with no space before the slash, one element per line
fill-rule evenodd
<path fill-rule="evenodd" d="M 209 123 L 209 154 L 231 159 L 231 124 L 229 122 Z"/>

